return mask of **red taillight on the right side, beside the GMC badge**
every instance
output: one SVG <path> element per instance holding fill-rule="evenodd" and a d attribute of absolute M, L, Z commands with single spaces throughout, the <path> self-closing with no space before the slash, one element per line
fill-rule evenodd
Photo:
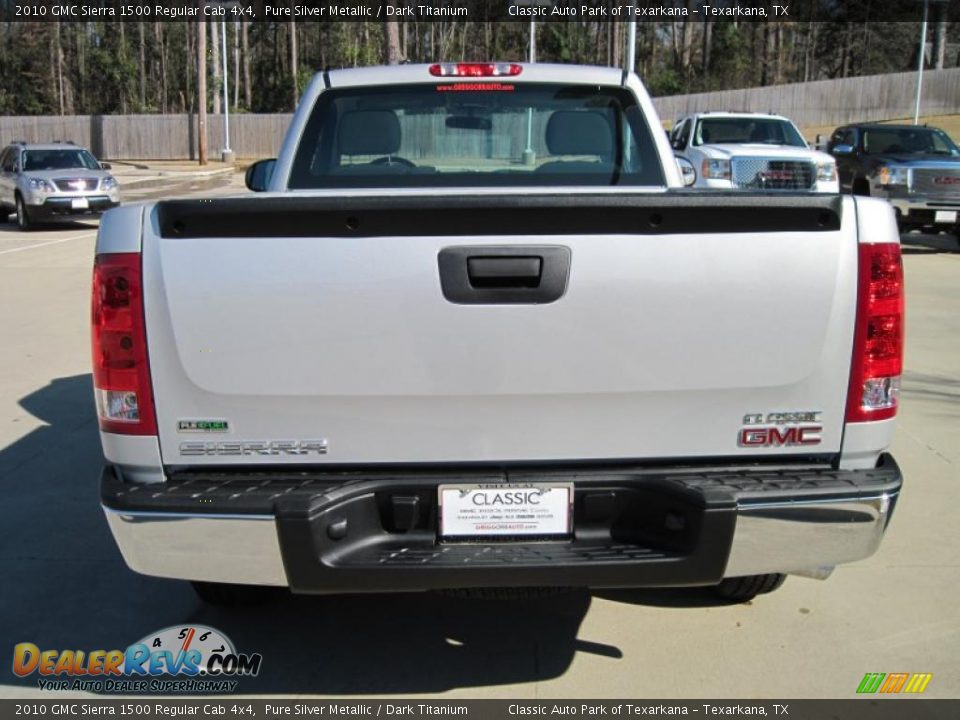
<path fill-rule="evenodd" d="M 897 414 L 903 372 L 903 263 L 897 243 L 860 245 L 847 422 Z"/>

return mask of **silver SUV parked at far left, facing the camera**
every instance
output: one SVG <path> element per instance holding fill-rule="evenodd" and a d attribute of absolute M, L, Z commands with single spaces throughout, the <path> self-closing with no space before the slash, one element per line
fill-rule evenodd
<path fill-rule="evenodd" d="M 14 142 L 0 153 L 0 222 L 17 213 L 21 230 L 38 221 L 96 215 L 120 204 L 110 165 L 73 143 Z"/>

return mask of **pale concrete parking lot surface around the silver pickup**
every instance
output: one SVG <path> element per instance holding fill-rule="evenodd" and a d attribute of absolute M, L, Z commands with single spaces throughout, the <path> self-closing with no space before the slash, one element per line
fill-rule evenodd
<path fill-rule="evenodd" d="M 193 187 L 191 187 L 193 185 Z M 216 195 L 238 177 L 144 191 Z M 436 595 L 304 598 L 240 611 L 127 570 L 99 509 L 88 306 L 95 223 L 0 225 L 0 697 L 17 642 L 115 648 L 202 623 L 260 652 L 256 695 L 850 698 L 866 672 L 931 672 L 960 697 L 960 252 L 905 236 L 906 484 L 880 552 L 826 582 L 752 603 L 690 591 L 525 601 Z"/>

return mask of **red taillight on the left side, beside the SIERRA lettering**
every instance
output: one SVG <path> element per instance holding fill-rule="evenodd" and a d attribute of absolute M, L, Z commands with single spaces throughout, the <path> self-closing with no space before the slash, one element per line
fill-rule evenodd
<path fill-rule="evenodd" d="M 138 253 L 97 257 L 90 321 L 100 429 L 156 435 Z"/>

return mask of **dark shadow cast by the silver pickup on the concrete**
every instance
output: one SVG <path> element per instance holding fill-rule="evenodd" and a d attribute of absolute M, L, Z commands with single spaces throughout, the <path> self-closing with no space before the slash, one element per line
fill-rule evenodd
<path fill-rule="evenodd" d="M 436 693 L 555 678 L 577 652 L 619 659 L 582 638 L 592 596 L 530 600 L 438 594 L 295 597 L 222 610 L 188 583 L 127 569 L 99 507 L 102 463 L 89 375 L 58 378 L 20 401 L 45 423 L 0 448 L 0 637 L 41 649 L 125 649 L 162 628 L 211 625 L 263 666 L 238 691 L 256 694 Z M 22 419 L 21 419 L 22 421 Z M 692 592 L 692 594 L 691 594 Z M 698 607 L 696 591 L 620 596 L 628 603 Z M 719 604 L 719 603 L 716 603 Z M 10 656 L 8 657 L 8 661 Z M 7 665 L 8 668 L 11 665 Z M 7 670 L 0 687 L 36 688 Z"/>

